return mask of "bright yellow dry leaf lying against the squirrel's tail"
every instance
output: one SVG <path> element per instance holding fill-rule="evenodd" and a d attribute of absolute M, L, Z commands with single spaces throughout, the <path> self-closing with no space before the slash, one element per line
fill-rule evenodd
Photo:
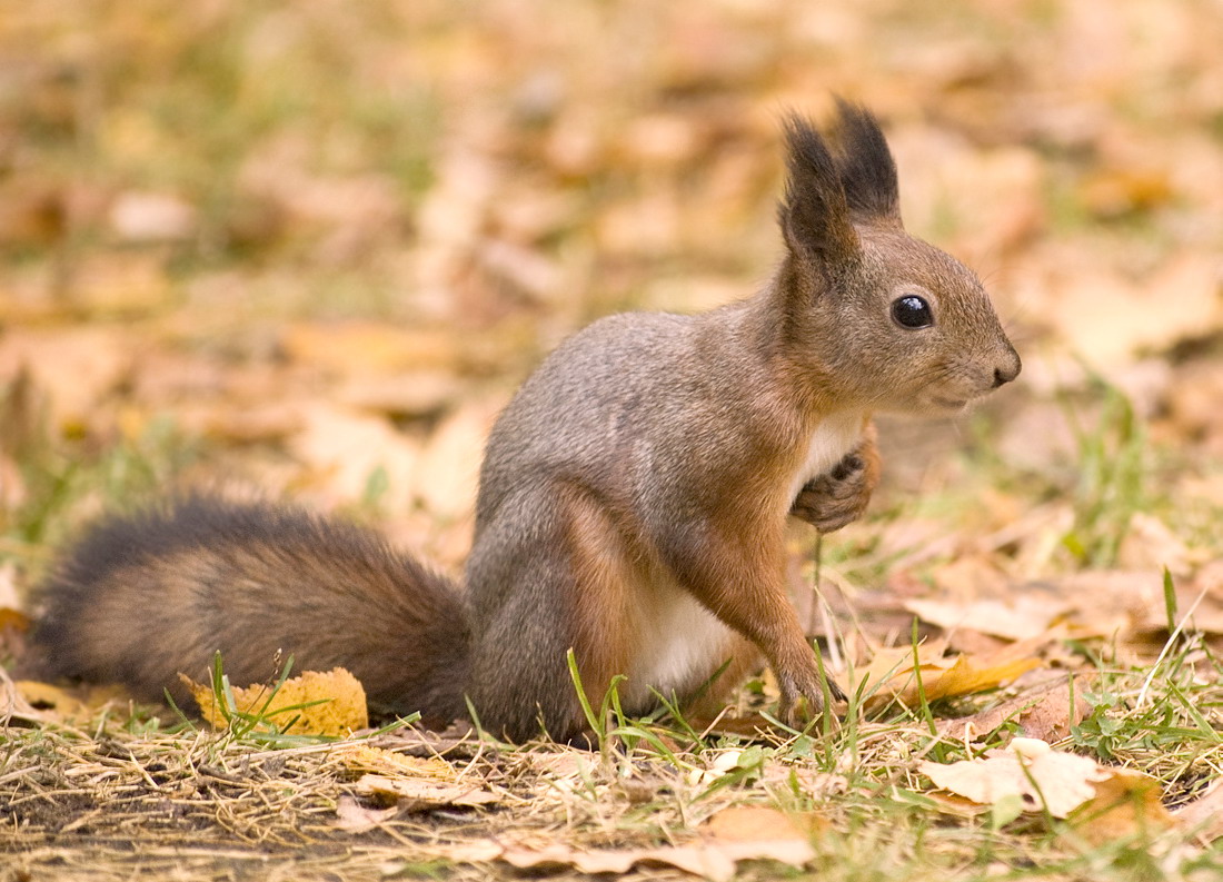
<path fill-rule="evenodd" d="M 204 719 L 216 729 L 224 728 L 225 716 L 216 706 L 216 696 L 212 687 L 198 684 L 185 674 L 179 676 L 191 690 Z M 292 725 L 283 729 L 286 734 L 344 738 L 356 729 L 369 725 L 366 690 L 361 686 L 361 681 L 344 668 L 333 668 L 327 673 L 307 670 L 285 680 L 270 705 L 269 694 L 270 687 L 267 685 L 246 689 L 235 686 L 234 710 L 241 713 L 259 713 L 278 727 L 289 725 L 296 717 Z M 298 707 L 300 705 L 309 706 Z"/>

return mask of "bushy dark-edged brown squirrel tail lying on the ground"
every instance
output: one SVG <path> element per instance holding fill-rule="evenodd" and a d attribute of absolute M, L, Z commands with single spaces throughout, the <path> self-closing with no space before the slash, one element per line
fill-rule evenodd
<path fill-rule="evenodd" d="M 378 533 L 292 506 L 191 494 L 104 517 L 38 592 L 34 669 L 122 683 L 141 699 L 177 674 L 234 683 L 342 665 L 374 707 L 429 725 L 466 716 L 468 613 L 453 582 Z"/>

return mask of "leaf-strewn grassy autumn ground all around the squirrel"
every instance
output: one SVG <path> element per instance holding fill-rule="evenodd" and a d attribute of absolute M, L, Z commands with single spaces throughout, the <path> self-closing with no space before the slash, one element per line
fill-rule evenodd
<path fill-rule="evenodd" d="M 6 11 L 6 669 L 56 548 L 172 486 L 457 573 L 516 384 L 596 317 L 767 280 L 780 115 L 837 93 L 1025 367 L 885 421 L 884 486 L 818 566 L 795 533 L 861 685 L 835 727 L 769 723 L 763 675 L 708 732 L 594 707 L 594 750 L 400 725 L 358 760 L 4 683 L 0 878 L 1213 878 L 1221 43 L 1210 0 Z"/>

